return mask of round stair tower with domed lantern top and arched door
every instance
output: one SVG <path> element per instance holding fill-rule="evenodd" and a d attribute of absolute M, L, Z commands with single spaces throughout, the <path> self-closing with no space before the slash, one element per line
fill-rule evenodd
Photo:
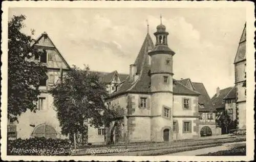
<path fill-rule="evenodd" d="M 156 44 L 148 52 L 151 60 L 151 114 L 152 141 L 170 141 L 172 139 L 173 114 L 173 56 L 175 52 L 168 48 L 165 26 L 157 26 Z"/>

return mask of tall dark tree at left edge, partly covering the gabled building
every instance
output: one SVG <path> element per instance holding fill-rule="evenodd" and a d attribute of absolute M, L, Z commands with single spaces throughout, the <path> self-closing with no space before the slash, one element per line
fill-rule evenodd
<path fill-rule="evenodd" d="M 13 121 L 28 109 L 35 112 L 39 81 L 47 79 L 47 67 L 29 61 L 41 52 L 31 47 L 31 36 L 20 32 L 25 19 L 20 15 L 8 21 L 8 119 Z"/>

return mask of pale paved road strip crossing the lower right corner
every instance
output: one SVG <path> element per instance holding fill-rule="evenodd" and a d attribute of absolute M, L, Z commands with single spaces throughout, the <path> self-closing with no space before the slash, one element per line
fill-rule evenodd
<path fill-rule="evenodd" d="M 223 144 L 222 146 L 217 146 L 217 147 L 208 147 L 208 148 L 203 148 L 203 149 L 198 149 L 198 150 L 177 152 L 177 153 L 166 154 L 166 155 L 167 156 L 182 156 L 182 155 L 183 156 L 184 155 L 195 156 L 195 155 L 200 155 L 200 154 L 207 154 L 209 152 L 228 150 L 238 144 L 246 144 L 246 142 L 227 143 L 227 144 Z M 161 156 L 166 156 L 166 155 L 161 155 Z"/>

